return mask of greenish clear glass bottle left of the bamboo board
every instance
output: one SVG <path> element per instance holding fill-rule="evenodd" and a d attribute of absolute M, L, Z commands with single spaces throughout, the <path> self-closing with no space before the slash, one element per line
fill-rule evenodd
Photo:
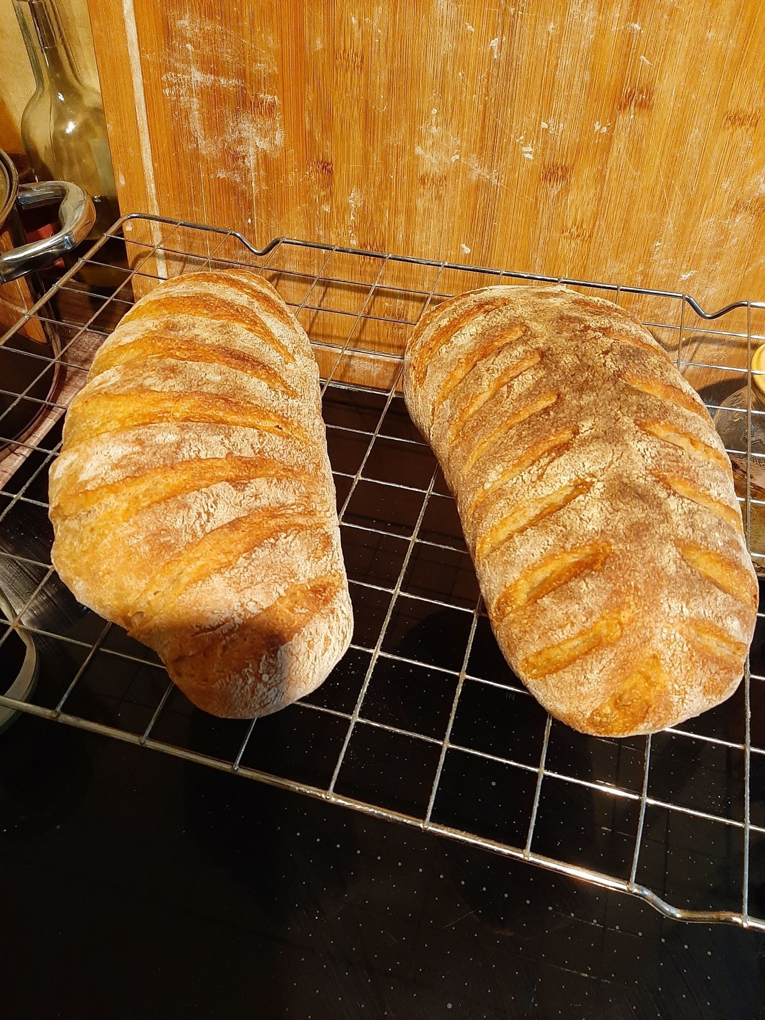
<path fill-rule="evenodd" d="M 93 199 L 96 221 L 87 250 L 119 217 L 101 97 L 80 81 L 52 0 L 13 0 L 13 7 L 36 86 L 21 115 L 21 141 L 38 181 L 70 181 Z M 124 246 L 109 244 L 113 250 L 103 260 L 123 263 Z M 88 270 L 104 278 L 87 279 Z M 81 276 L 97 286 L 116 278 L 99 266 L 88 266 Z"/>

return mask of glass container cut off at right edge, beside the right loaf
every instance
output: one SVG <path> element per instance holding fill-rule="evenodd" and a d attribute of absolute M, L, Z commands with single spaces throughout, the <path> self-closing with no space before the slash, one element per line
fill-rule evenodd
<path fill-rule="evenodd" d="M 724 400 L 715 412 L 714 423 L 725 445 L 733 468 L 733 483 L 737 496 L 747 496 L 747 404 L 751 389 L 751 465 L 750 496 L 763 501 L 752 502 L 750 512 L 751 547 L 755 570 L 765 576 L 765 344 L 752 355 L 752 386 L 744 385 Z M 744 516 L 744 507 L 742 507 Z M 746 522 L 746 519 L 745 519 Z"/>

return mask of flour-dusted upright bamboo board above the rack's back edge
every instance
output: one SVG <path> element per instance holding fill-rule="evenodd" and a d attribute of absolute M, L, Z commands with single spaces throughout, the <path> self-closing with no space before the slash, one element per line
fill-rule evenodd
<path fill-rule="evenodd" d="M 765 295 L 754 0 L 90 9 L 122 211 Z"/>

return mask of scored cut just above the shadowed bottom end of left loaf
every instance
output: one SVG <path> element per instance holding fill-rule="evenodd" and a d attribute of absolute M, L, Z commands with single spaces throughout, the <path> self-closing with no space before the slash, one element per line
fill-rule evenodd
<path fill-rule="evenodd" d="M 258 507 L 244 517 L 208 531 L 197 542 L 185 546 L 151 577 L 135 600 L 130 632 L 140 639 L 157 613 L 166 612 L 186 589 L 225 570 L 269 539 L 313 528 L 316 532 L 314 554 L 319 556 L 330 543 L 322 528 L 324 519 L 321 514 L 298 505 L 271 511 L 268 516 Z"/>

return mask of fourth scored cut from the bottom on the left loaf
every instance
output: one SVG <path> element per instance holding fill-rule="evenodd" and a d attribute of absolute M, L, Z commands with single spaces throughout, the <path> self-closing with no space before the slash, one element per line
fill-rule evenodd
<path fill-rule="evenodd" d="M 163 393 L 139 390 L 133 393 L 87 394 L 69 408 L 64 427 L 69 446 L 81 439 L 135 425 L 163 421 L 197 421 L 245 425 L 275 436 L 305 442 L 305 431 L 275 411 L 210 393 Z"/>

